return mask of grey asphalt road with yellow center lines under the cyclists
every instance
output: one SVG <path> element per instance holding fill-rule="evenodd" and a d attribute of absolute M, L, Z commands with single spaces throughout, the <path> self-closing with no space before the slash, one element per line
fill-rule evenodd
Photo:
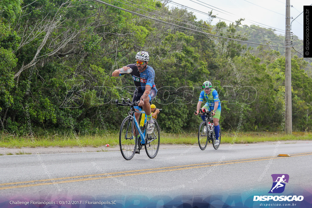
<path fill-rule="evenodd" d="M 295 142 L 295 141 L 294 141 Z M 290 154 L 291 157 L 277 157 Z M 312 193 L 312 142 L 160 149 L 130 161 L 120 152 L 0 156 L 0 196 L 27 200 L 267 194 L 271 174 L 288 174 L 287 193 Z"/>

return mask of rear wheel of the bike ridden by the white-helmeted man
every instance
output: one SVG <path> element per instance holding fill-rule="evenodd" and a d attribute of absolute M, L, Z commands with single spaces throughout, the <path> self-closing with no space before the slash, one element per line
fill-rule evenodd
<path fill-rule="evenodd" d="M 156 121 L 156 119 L 154 120 L 154 131 L 151 134 L 147 134 L 145 131 L 145 143 L 148 143 L 145 145 L 145 151 L 147 156 L 149 156 L 149 158 L 154 158 L 156 157 L 157 153 L 158 153 L 158 149 L 159 149 L 159 143 L 160 143 L 160 129 L 159 129 L 159 125 Z"/>

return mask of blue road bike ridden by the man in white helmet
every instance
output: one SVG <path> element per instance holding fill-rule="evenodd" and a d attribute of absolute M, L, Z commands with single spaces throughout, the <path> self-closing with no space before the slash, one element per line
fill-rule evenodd
<path fill-rule="evenodd" d="M 160 143 L 160 130 L 156 119 L 153 119 L 155 124 L 153 133 L 147 134 L 147 122 L 140 128 L 139 123 L 134 117 L 134 112 L 141 114 L 145 113 L 144 111 L 134 110 L 134 106 L 137 106 L 139 102 L 131 103 L 130 99 L 127 101 L 122 99 L 121 103 L 116 100 L 116 104 L 130 106 L 129 115 L 121 123 L 119 131 L 119 147 L 124 159 L 131 160 L 135 153 L 140 154 L 140 150 L 143 146 L 145 147 L 145 152 L 149 158 L 156 157 Z M 135 135 L 140 136 L 137 138 Z"/>

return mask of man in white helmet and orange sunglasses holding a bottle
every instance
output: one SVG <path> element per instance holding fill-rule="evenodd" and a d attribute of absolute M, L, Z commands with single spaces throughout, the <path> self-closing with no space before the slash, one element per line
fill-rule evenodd
<path fill-rule="evenodd" d="M 147 52 L 140 51 L 136 54 L 135 58 L 135 64 L 123 66 L 122 69 L 125 71 L 130 68 L 132 69 L 132 72 L 128 73 L 132 75 L 134 85 L 136 86 L 132 102 L 140 101 L 139 106 L 143 106 L 148 121 L 147 134 L 151 134 L 154 131 L 155 126 L 150 106 L 150 102 L 157 94 L 157 89 L 154 83 L 155 71 L 152 67 L 147 65 L 149 60 L 149 54 Z M 125 73 L 121 74 L 119 70 L 115 70 L 112 73 L 112 76 L 118 77 L 124 74 Z M 142 110 L 139 106 L 135 106 L 135 109 Z M 139 122 L 140 114 L 134 112 L 134 116 Z"/>

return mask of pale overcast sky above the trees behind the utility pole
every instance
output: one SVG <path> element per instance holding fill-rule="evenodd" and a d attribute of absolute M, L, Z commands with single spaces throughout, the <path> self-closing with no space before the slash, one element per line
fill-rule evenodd
<path fill-rule="evenodd" d="M 205 13 L 211 11 L 212 9 L 215 9 L 213 10 L 214 15 L 217 15 L 217 17 L 220 17 L 229 21 L 233 21 L 233 22 L 235 20 L 238 20 L 239 18 L 245 18 L 245 21 L 243 21 L 242 24 L 246 24 L 248 26 L 250 26 L 251 24 L 255 24 L 255 25 L 265 24 L 267 26 L 265 25 L 261 25 L 261 26 L 271 27 L 271 28 L 275 27 L 275 28 L 278 28 L 276 29 L 277 30 L 275 32 L 276 34 L 282 34 L 285 36 L 286 0 L 262 0 L 262 1 L 255 1 L 255 0 L 246 0 L 246 1 L 245 0 L 214 0 L 214 1 L 211 1 L 211 0 L 172 0 L 172 2 L 176 2 L 176 3 L 185 5 L 187 7 L 191 7 L 193 9 L 196 9 Z M 290 5 L 293 5 L 293 7 L 290 7 L 290 17 L 293 17 L 293 18 L 297 17 L 303 11 L 303 6 L 310 5 L 311 3 L 312 1 L 310 0 L 290 0 Z M 208 6 L 207 4 L 211 6 Z M 256 6 L 255 4 L 258 6 Z M 168 6 L 172 7 L 173 3 L 168 3 Z M 210 8 L 207 8 L 205 6 L 210 7 Z M 219 9 L 214 8 L 214 7 L 217 7 Z M 222 10 L 225 10 L 227 12 L 224 12 Z M 199 12 L 194 12 L 194 14 L 197 17 L 197 20 L 208 19 L 207 18 L 208 16 L 205 14 L 201 14 Z M 214 19 L 212 24 L 216 24 L 219 20 L 220 19 L 217 19 L 217 18 Z M 224 20 L 221 20 L 221 21 L 224 21 Z M 231 23 L 229 21 L 224 21 L 224 22 L 226 22 L 228 25 L 229 23 Z M 292 25 L 291 31 L 302 40 L 303 39 L 303 14 L 297 17 L 295 21 L 292 22 L 291 25 Z"/>

